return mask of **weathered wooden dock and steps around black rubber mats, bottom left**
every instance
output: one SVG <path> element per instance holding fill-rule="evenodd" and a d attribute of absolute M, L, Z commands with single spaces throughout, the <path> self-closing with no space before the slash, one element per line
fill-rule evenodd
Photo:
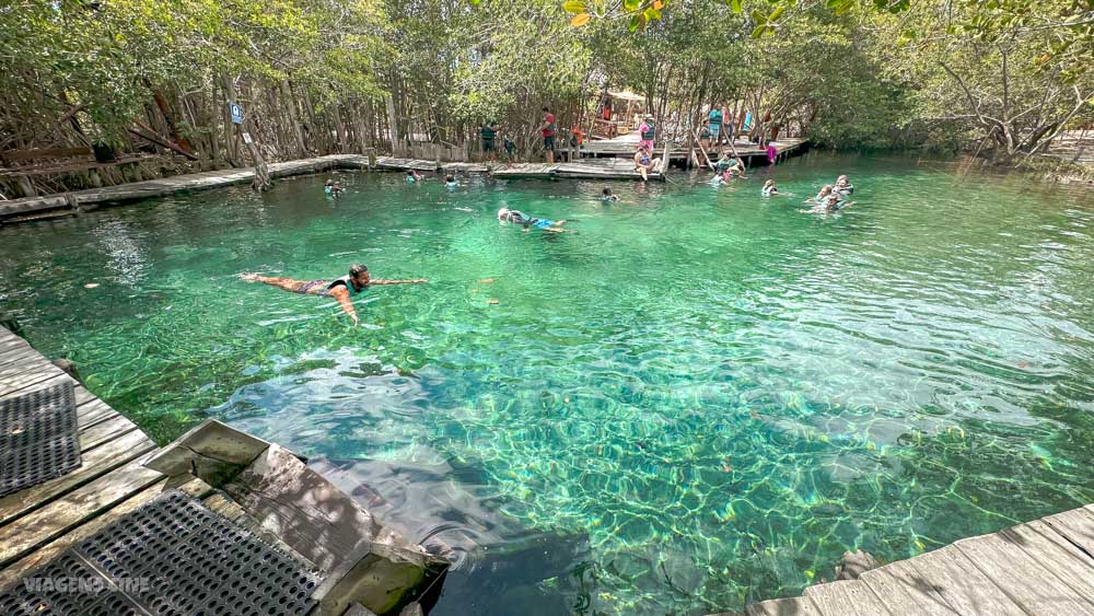
<path fill-rule="evenodd" d="M 292 452 L 213 420 L 161 450 L 0 327 L 0 398 L 62 382 L 74 383 L 81 465 L 0 498 L 0 593 L 168 489 L 316 571 L 312 616 L 420 615 L 418 602 L 440 592 L 446 559 L 382 525 Z"/>

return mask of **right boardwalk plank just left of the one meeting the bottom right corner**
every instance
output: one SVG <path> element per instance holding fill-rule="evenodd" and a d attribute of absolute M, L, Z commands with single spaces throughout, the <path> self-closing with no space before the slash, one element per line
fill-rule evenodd
<path fill-rule="evenodd" d="M 958 614 L 968 616 L 1027 616 L 976 565 L 954 546 L 908 560 Z"/>

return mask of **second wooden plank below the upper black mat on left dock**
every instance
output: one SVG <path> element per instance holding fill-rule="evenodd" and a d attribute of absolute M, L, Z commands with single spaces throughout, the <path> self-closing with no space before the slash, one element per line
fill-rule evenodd
<path fill-rule="evenodd" d="M 162 477 L 133 461 L 0 527 L 0 566 L 25 557 Z"/>

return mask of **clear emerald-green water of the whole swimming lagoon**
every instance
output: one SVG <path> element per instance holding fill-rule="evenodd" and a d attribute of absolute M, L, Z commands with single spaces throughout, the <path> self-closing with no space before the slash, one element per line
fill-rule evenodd
<path fill-rule="evenodd" d="M 738 608 L 1094 501 L 1094 195 L 811 155 L 764 199 L 764 173 L 610 206 L 309 177 L 0 229 L 0 316 L 156 439 L 225 419 L 454 546 L 435 614 Z M 800 213 L 838 173 L 858 205 Z M 234 277 L 354 261 L 432 282 L 351 328 Z"/>

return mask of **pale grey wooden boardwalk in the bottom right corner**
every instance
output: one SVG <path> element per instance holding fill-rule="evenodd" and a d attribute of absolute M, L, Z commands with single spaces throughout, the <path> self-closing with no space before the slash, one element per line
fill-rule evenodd
<path fill-rule="evenodd" d="M 749 605 L 748 616 L 1094 615 L 1094 505 Z"/>

